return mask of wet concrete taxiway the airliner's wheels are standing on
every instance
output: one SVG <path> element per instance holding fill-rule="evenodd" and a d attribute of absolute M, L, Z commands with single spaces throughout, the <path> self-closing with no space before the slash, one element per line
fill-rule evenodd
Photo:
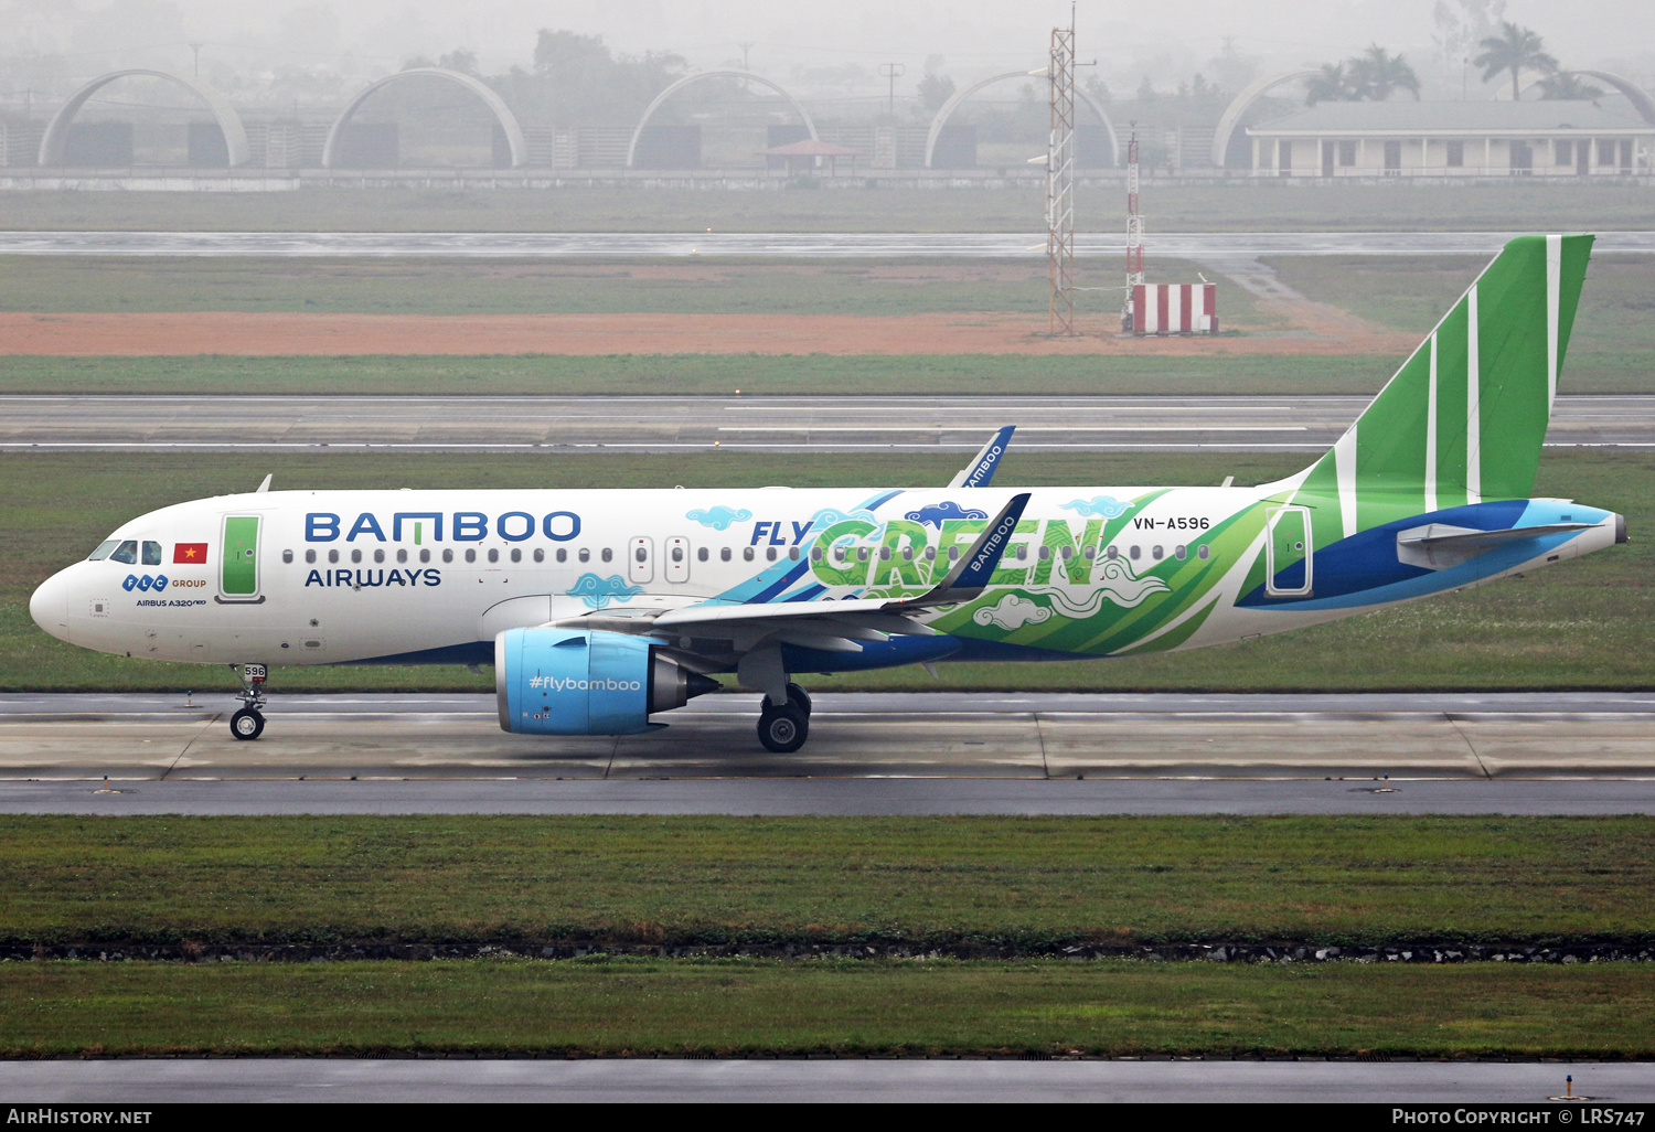
<path fill-rule="evenodd" d="M 245 743 L 233 707 L 0 697 L 0 809 L 1655 811 L 1655 695 L 823 693 L 794 755 L 760 748 L 738 693 L 576 738 L 506 735 L 492 695 L 293 695 Z"/>

